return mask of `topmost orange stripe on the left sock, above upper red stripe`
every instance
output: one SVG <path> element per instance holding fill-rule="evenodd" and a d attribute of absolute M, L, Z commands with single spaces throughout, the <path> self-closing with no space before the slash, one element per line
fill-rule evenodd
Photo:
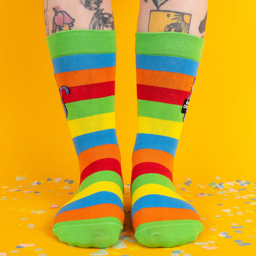
<path fill-rule="evenodd" d="M 58 88 L 97 84 L 115 80 L 116 67 L 102 67 L 55 74 Z"/>

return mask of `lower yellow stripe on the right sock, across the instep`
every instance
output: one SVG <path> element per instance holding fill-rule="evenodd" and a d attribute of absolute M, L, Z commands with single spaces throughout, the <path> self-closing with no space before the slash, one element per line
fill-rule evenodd
<path fill-rule="evenodd" d="M 139 198 L 143 197 L 144 195 L 152 195 L 152 194 L 166 195 L 166 196 L 177 198 L 187 202 L 180 195 L 175 193 L 172 189 L 169 189 L 166 186 L 152 183 L 152 184 L 145 184 L 143 186 L 140 186 L 138 189 L 135 190 L 134 194 L 132 195 L 132 206 Z"/>

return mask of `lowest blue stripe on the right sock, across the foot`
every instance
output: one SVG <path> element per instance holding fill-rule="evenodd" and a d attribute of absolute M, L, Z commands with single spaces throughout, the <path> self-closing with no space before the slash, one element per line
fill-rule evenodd
<path fill-rule="evenodd" d="M 148 207 L 166 207 L 166 208 L 181 208 L 181 209 L 190 209 L 196 213 L 198 213 L 191 204 L 182 201 L 177 198 L 172 198 L 166 195 L 144 195 L 139 198 L 133 205 L 131 209 L 131 218 L 135 212 L 140 209 L 148 208 Z"/>

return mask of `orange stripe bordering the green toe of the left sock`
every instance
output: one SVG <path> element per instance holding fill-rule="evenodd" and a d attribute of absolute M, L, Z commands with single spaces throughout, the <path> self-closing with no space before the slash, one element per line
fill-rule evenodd
<path fill-rule="evenodd" d="M 122 222 L 122 225 L 124 225 L 125 214 L 115 204 L 96 204 L 85 208 L 61 212 L 55 217 L 53 225 L 62 221 L 79 221 L 104 217 L 118 218 Z"/>

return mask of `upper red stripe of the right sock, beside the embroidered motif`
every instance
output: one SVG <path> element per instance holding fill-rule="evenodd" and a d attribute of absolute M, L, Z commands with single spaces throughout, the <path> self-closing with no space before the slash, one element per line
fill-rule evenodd
<path fill-rule="evenodd" d="M 189 97 L 190 93 L 191 92 L 183 90 L 137 84 L 138 99 L 149 101 L 183 105 L 184 100 Z"/>

